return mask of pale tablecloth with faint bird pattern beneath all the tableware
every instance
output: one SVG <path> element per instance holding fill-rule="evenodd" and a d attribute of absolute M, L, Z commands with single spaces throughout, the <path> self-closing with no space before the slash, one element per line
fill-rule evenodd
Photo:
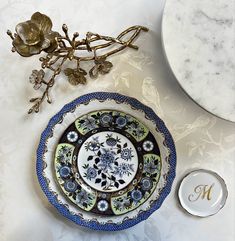
<path fill-rule="evenodd" d="M 235 240 L 235 124 L 214 117 L 196 105 L 179 87 L 164 58 L 161 14 L 164 1 L 70 0 L 0 2 L 0 240 L 1 241 L 233 241 Z M 72 87 L 58 78 L 53 104 L 28 116 L 28 99 L 37 93 L 28 83 L 38 56 L 10 52 L 7 28 L 29 19 L 35 11 L 49 15 L 54 29 L 67 23 L 71 31 L 116 35 L 128 26 L 150 28 L 128 50 L 111 58 L 115 68 L 86 86 Z M 65 103 L 92 91 L 117 91 L 152 107 L 176 142 L 177 176 L 171 194 L 147 221 L 125 231 L 105 233 L 80 228 L 60 216 L 42 193 L 35 173 L 35 151 L 49 118 Z M 215 216 L 195 218 L 177 201 L 177 185 L 190 170 L 208 168 L 226 181 L 229 197 Z"/>

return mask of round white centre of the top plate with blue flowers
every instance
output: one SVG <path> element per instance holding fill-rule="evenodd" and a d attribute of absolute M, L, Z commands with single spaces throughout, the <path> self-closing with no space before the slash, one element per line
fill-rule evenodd
<path fill-rule="evenodd" d="M 124 135 L 113 131 L 90 136 L 81 146 L 77 160 L 84 182 L 102 192 L 125 188 L 138 169 L 134 145 Z"/>

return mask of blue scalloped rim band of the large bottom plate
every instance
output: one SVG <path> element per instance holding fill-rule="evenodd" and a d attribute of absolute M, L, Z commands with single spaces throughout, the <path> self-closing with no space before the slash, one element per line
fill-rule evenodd
<path fill-rule="evenodd" d="M 65 208 L 65 206 L 58 203 L 56 200 L 56 197 L 48 190 L 47 182 L 45 177 L 42 175 L 43 172 L 43 153 L 45 150 L 45 144 L 47 138 L 50 136 L 52 132 L 53 126 L 59 122 L 63 114 L 66 112 L 71 111 L 74 109 L 78 104 L 87 103 L 92 99 L 98 99 L 98 100 L 106 100 L 106 99 L 113 99 L 118 102 L 126 102 L 133 106 L 136 109 L 140 109 L 145 112 L 145 114 L 155 122 L 156 126 L 158 127 L 159 131 L 162 132 L 165 135 L 165 142 L 166 145 L 171 150 L 171 155 L 169 158 L 170 163 L 170 170 L 169 175 L 167 178 L 167 184 L 163 188 L 162 193 L 159 197 L 159 199 L 152 204 L 152 207 L 145 212 L 140 213 L 135 219 L 125 220 L 121 224 L 114 224 L 114 223 L 108 223 L 108 224 L 99 224 L 96 221 L 85 221 L 81 219 L 77 215 L 72 215 L 68 209 Z M 37 162 L 36 162 L 36 172 L 38 176 L 38 181 L 41 185 L 42 190 L 44 191 L 45 195 L 47 196 L 49 202 L 66 218 L 70 219 L 71 221 L 75 222 L 78 225 L 88 227 L 94 230 L 102 230 L 102 231 L 118 231 L 127 229 L 129 227 L 132 227 L 136 225 L 137 223 L 147 219 L 154 211 L 159 209 L 164 201 L 164 199 L 167 197 L 167 195 L 171 191 L 171 186 L 173 183 L 173 180 L 175 178 L 175 169 L 176 169 L 176 151 L 175 151 L 175 145 L 174 141 L 171 137 L 170 132 L 166 128 L 164 122 L 154 113 L 154 111 L 143 105 L 141 102 L 139 102 L 137 99 L 134 99 L 132 97 L 124 96 L 118 93 L 110 93 L 110 92 L 94 92 L 90 94 L 86 94 L 83 96 L 80 96 L 79 98 L 75 99 L 74 101 L 70 102 L 69 104 L 65 105 L 56 115 L 54 115 L 46 129 L 42 132 L 41 139 L 39 142 L 39 146 L 37 149 Z"/>

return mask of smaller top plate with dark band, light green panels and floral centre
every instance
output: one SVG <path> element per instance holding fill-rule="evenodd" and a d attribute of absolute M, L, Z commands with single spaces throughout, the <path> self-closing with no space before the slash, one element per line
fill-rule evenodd
<path fill-rule="evenodd" d="M 145 203 L 157 187 L 162 160 L 148 127 L 121 111 L 103 109 L 78 117 L 54 153 L 60 189 L 77 207 L 117 216 Z"/>

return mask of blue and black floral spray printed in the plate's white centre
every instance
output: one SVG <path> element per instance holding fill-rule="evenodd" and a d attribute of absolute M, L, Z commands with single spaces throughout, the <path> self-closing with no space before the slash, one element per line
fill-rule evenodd
<path fill-rule="evenodd" d="M 126 183 L 125 177 L 134 175 L 135 168 L 132 161 L 133 147 L 128 142 L 122 141 L 119 134 L 107 132 L 107 134 L 91 136 L 92 141 L 85 143 L 87 162 L 83 164 L 83 177 L 87 178 L 95 186 L 102 190 L 117 190 Z M 102 140 L 102 141 L 101 141 Z M 92 168 L 92 169 L 90 169 Z M 94 170 L 96 170 L 96 175 Z M 92 170 L 92 175 L 89 173 Z M 94 174 L 94 177 L 93 177 Z"/>

